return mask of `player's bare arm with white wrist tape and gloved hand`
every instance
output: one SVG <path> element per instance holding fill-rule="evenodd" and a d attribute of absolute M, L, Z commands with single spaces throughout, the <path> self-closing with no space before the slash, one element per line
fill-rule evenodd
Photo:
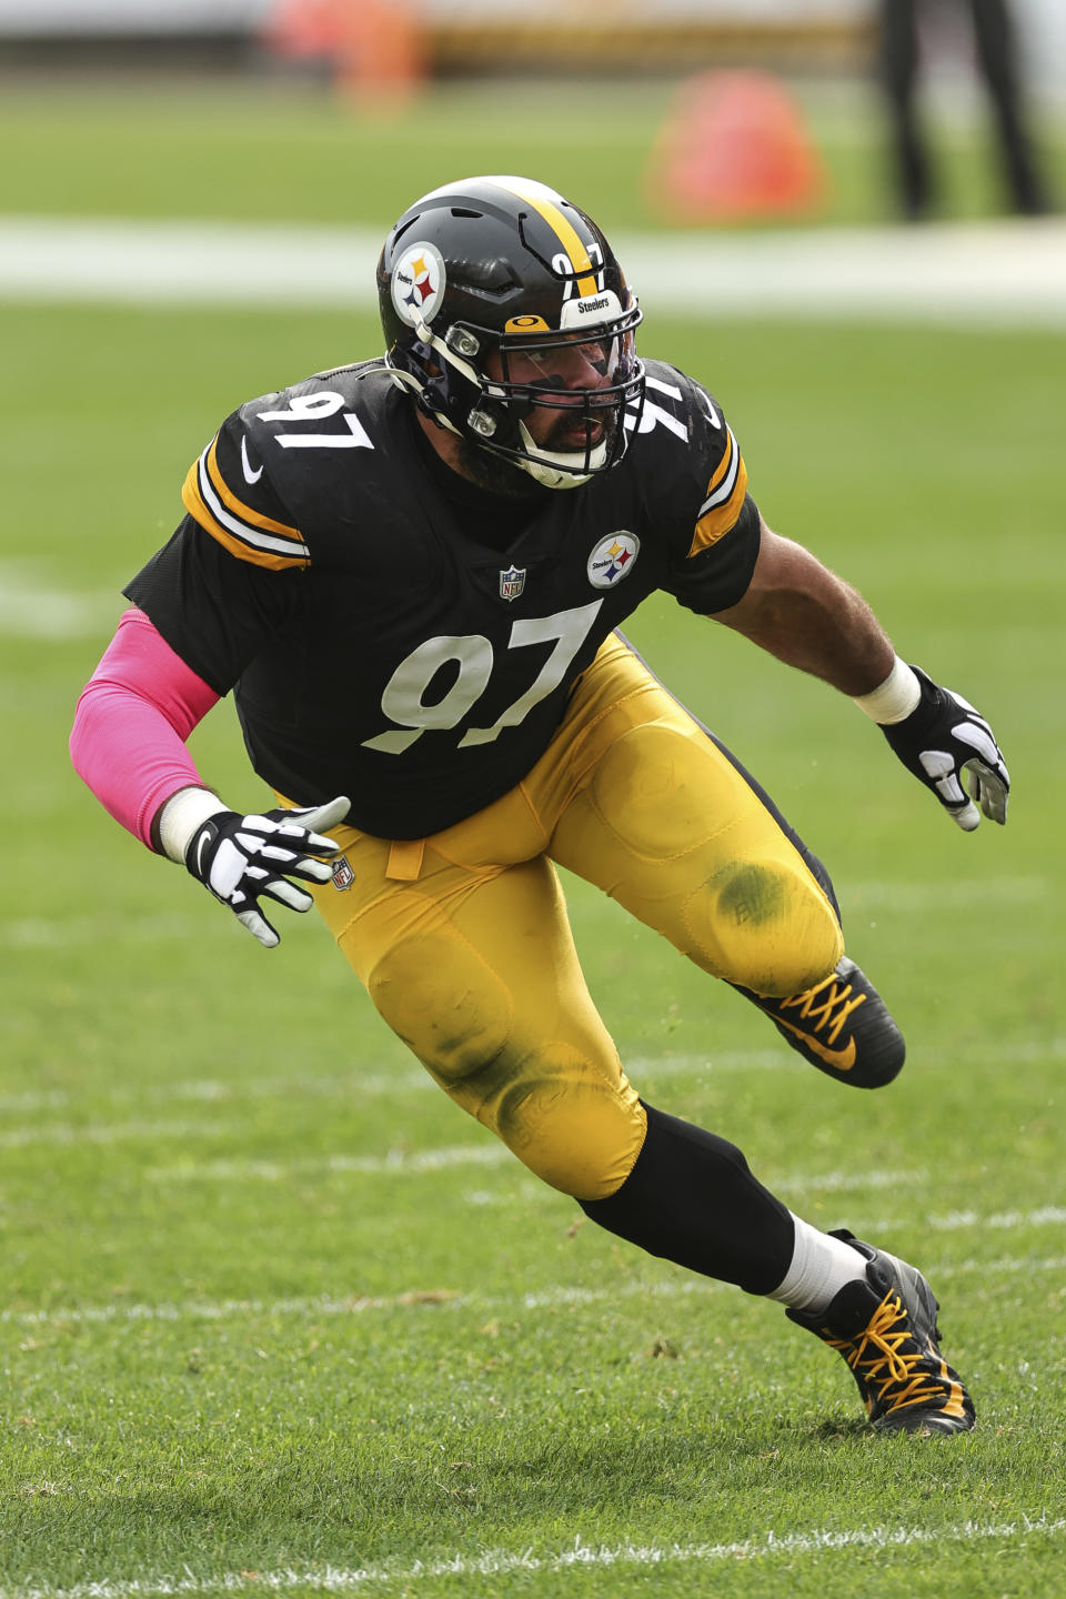
<path fill-rule="evenodd" d="M 1007 820 L 1010 776 L 992 729 L 951 689 L 908 667 L 858 590 L 764 521 L 751 582 L 714 620 L 849 694 L 954 822 Z"/>

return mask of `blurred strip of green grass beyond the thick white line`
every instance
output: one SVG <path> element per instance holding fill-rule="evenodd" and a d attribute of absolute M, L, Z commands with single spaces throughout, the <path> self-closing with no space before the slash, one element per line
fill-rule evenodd
<path fill-rule="evenodd" d="M 0 211 L 74 216 L 288 219 L 388 227 L 436 184 L 531 173 L 614 229 L 660 227 L 652 150 L 673 82 L 495 82 L 436 86 L 393 115 L 360 112 L 300 83 L 187 80 L 6 86 L 0 139 L 27 160 L 0 171 Z M 798 221 L 876 222 L 895 213 L 884 107 L 869 85 L 794 88 L 825 168 Z M 575 123 L 580 131 L 575 131 Z M 1066 128 L 1036 118 L 1042 163 L 1066 193 Z M 983 110 L 929 115 L 943 213 L 1002 205 Z"/>

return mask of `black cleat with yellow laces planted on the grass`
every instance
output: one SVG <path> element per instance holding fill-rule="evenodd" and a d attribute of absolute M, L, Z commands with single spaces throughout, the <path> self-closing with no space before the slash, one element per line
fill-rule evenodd
<path fill-rule="evenodd" d="M 940 1306 L 922 1273 L 845 1230 L 833 1236 L 865 1255 L 866 1279 L 847 1282 L 821 1316 L 788 1310 L 788 1319 L 844 1356 L 879 1433 L 969 1433 L 973 1401 L 940 1353 Z"/>

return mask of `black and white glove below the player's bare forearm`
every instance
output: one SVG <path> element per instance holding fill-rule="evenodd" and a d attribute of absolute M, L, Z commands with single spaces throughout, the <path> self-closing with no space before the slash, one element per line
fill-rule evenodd
<path fill-rule="evenodd" d="M 921 667 L 911 670 L 922 697 L 903 721 L 882 724 L 885 739 L 967 833 L 980 823 L 981 811 L 1005 822 L 1010 774 L 992 729 L 961 694 L 938 688 Z"/>

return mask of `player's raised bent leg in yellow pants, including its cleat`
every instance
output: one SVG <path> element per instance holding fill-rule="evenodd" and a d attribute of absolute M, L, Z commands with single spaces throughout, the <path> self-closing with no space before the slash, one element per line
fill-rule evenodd
<path fill-rule="evenodd" d="M 555 860 L 738 988 L 818 1070 L 855 1087 L 898 1073 L 903 1038 L 844 955 L 825 867 L 625 644 L 601 649 L 556 742 L 566 761 L 526 785 L 555 819 Z"/>

